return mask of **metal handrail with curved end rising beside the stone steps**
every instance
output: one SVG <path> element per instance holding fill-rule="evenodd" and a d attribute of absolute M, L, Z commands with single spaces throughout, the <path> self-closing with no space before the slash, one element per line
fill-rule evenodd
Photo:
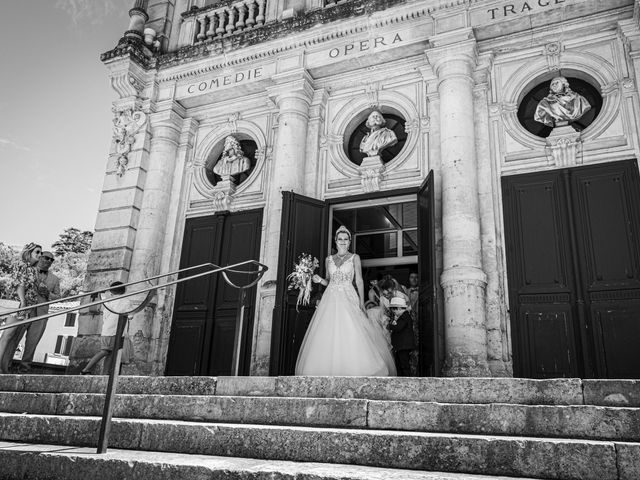
<path fill-rule="evenodd" d="M 243 265 L 255 265 L 257 267 L 257 270 L 255 271 L 246 271 L 246 270 L 237 270 L 238 267 L 241 267 Z M 122 335 L 124 334 L 124 328 L 127 324 L 127 321 L 129 319 L 129 315 L 136 313 L 140 310 L 142 310 L 144 307 L 147 306 L 147 304 L 151 301 L 151 299 L 153 298 L 153 295 L 155 294 L 155 291 L 158 290 L 159 288 L 165 288 L 168 287 L 169 285 L 175 285 L 181 282 L 186 282 L 187 280 L 193 280 L 194 278 L 198 278 L 198 277 L 204 277 L 206 275 L 212 275 L 214 273 L 222 273 L 222 276 L 224 277 L 225 281 L 231 285 L 234 288 L 237 288 L 240 290 L 240 308 L 238 309 L 238 328 L 240 328 L 240 330 L 242 330 L 242 326 L 243 326 L 243 321 L 244 321 L 244 300 L 246 298 L 246 290 L 248 288 L 251 288 L 252 286 L 254 286 L 256 283 L 258 283 L 260 281 L 260 279 L 262 278 L 262 276 L 264 275 L 264 273 L 267 271 L 268 267 L 260 262 L 258 262 L 257 260 L 247 260 L 244 262 L 240 262 L 240 263 L 235 263 L 233 265 L 227 265 L 226 267 L 220 267 L 214 263 L 203 263 L 201 265 L 196 265 L 193 267 L 186 267 L 186 268 L 182 268 L 180 270 L 176 270 L 175 272 L 170 272 L 170 273 L 164 273 L 164 274 L 160 274 L 160 275 L 155 275 L 153 277 L 149 277 L 149 278 L 145 278 L 142 280 L 137 280 L 134 282 L 129 282 L 129 283 L 125 283 L 122 285 L 118 285 L 117 288 L 126 288 L 129 287 L 131 285 L 137 285 L 139 283 L 143 283 L 143 282 L 149 282 L 151 280 L 156 280 L 156 279 L 160 279 L 163 277 L 168 277 L 170 275 L 175 275 L 175 274 L 179 274 L 179 273 L 183 273 L 189 270 L 195 270 L 197 268 L 211 268 L 213 267 L 213 270 L 209 270 L 206 272 L 202 272 L 202 273 L 196 273 L 193 275 L 189 275 L 183 278 L 178 278 L 176 280 L 171 280 L 168 282 L 165 282 L 164 284 L 161 285 L 153 285 L 151 287 L 147 287 L 147 288 L 143 288 L 141 290 L 136 290 L 134 292 L 131 293 L 124 293 L 122 295 L 116 295 L 113 296 L 111 298 L 107 298 L 104 300 L 97 300 L 94 302 L 90 302 L 90 303 L 85 303 L 83 305 L 79 305 L 78 307 L 72 307 L 72 308 L 68 308 L 68 309 L 64 309 L 55 313 L 48 313 L 46 315 L 39 315 L 37 317 L 32 317 L 32 318 L 27 318 L 25 320 L 19 320 L 17 322 L 8 324 L 8 325 L 0 325 L 0 331 L 2 330 L 7 330 L 9 328 L 17 328 L 20 327 L 21 325 L 28 325 L 30 323 L 33 322 L 37 322 L 39 320 L 44 320 L 50 317 L 54 317 L 54 316 L 58 316 L 58 315 L 63 315 L 65 313 L 68 312 L 75 312 L 77 310 L 84 310 L 86 308 L 89 307 L 93 307 L 96 305 L 104 305 L 104 308 L 106 308 L 107 310 L 109 310 L 112 313 L 116 313 L 118 314 L 118 326 L 116 328 L 116 335 L 115 335 L 115 341 L 114 341 L 114 345 L 113 345 L 113 351 L 111 353 L 111 355 L 113 355 L 113 357 L 111 358 L 111 363 L 110 363 L 110 371 L 109 371 L 109 381 L 107 383 L 107 391 L 105 392 L 105 401 L 104 401 L 104 407 L 102 409 L 102 422 L 100 424 L 100 433 L 98 435 L 98 450 L 97 453 L 106 453 L 107 452 L 107 445 L 109 443 L 109 433 L 111 431 L 111 418 L 113 416 L 113 401 L 115 400 L 115 395 L 116 395 L 116 388 L 118 385 L 118 378 L 119 378 L 119 372 L 120 372 L 120 362 L 121 362 L 121 358 L 122 358 Z M 257 275 L 257 278 L 255 280 L 253 280 L 252 282 L 250 282 L 247 285 L 243 285 L 243 286 L 239 286 L 234 284 L 233 282 L 231 282 L 231 280 L 229 279 L 227 272 L 233 272 L 233 273 L 241 273 L 244 275 Z M 101 289 L 97 289 L 94 290 L 92 292 L 87 292 L 87 293 L 82 293 L 79 295 L 73 295 L 71 297 L 66 297 L 65 299 L 58 299 L 58 300 L 52 300 L 49 302 L 43 302 L 43 303 L 39 303 L 38 305 L 30 305 L 28 307 L 23 307 L 23 308 L 17 308 L 14 310 L 10 310 L 8 312 L 3 313 L 2 315 L 0 315 L 0 319 L 3 317 L 10 317 L 12 315 L 15 315 L 16 313 L 19 312 L 23 312 L 25 310 L 31 310 L 31 309 L 37 309 L 38 307 L 41 306 L 45 306 L 45 305 L 51 305 L 52 303 L 60 303 L 61 301 L 69 301 L 70 299 L 77 299 L 77 298 L 82 298 L 82 297 L 86 297 L 86 296 L 93 296 L 93 295 L 99 295 L 100 293 L 104 293 L 108 290 L 111 290 L 112 287 L 106 287 L 106 288 L 101 288 Z M 142 300 L 142 302 L 140 303 L 140 305 L 138 305 L 137 307 L 126 311 L 126 312 L 115 312 L 114 310 L 112 310 L 111 308 L 109 308 L 106 303 L 111 303 L 114 302 L 116 300 L 120 300 L 121 298 L 128 298 L 128 297 L 132 297 L 134 295 L 139 295 L 141 293 L 146 293 L 146 297 L 144 300 Z"/>

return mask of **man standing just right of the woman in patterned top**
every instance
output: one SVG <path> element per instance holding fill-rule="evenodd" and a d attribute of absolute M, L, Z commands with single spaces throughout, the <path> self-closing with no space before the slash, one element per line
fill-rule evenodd
<path fill-rule="evenodd" d="M 38 260 L 38 304 L 57 300 L 60 298 L 60 279 L 49 269 L 54 262 L 53 253 L 42 252 Z M 43 305 L 36 308 L 36 316 L 46 315 L 49 313 L 49 305 Z M 22 360 L 18 371 L 20 373 L 28 373 L 31 370 L 31 362 L 33 362 L 33 354 L 36 347 L 42 339 L 45 329 L 47 328 L 47 320 L 38 320 L 26 327 L 27 336 L 24 343 L 24 351 L 22 352 Z"/>

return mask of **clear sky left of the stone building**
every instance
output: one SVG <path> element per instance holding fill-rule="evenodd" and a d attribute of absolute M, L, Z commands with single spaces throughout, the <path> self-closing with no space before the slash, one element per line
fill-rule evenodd
<path fill-rule="evenodd" d="M 93 231 L 112 136 L 100 54 L 133 0 L 0 0 L 0 242 Z"/>

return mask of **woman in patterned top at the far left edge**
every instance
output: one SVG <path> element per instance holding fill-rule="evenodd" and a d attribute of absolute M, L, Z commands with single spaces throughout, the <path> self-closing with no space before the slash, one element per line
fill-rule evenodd
<path fill-rule="evenodd" d="M 20 262 L 12 269 L 11 287 L 14 296 L 20 301 L 20 308 L 38 303 L 38 270 L 36 265 L 42 255 L 42 247 L 37 243 L 28 243 L 20 253 Z M 34 309 L 25 310 L 7 319 L 7 325 L 33 317 Z M 19 326 L 3 330 L 0 336 L 0 373 L 9 373 L 13 354 L 22 339 L 25 327 Z"/>

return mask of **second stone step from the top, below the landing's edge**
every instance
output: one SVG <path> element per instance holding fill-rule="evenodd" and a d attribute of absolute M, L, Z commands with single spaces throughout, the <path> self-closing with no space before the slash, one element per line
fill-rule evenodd
<path fill-rule="evenodd" d="M 100 416 L 104 395 L 1 392 L 0 411 Z M 640 408 L 117 395 L 114 417 L 640 441 Z"/>

